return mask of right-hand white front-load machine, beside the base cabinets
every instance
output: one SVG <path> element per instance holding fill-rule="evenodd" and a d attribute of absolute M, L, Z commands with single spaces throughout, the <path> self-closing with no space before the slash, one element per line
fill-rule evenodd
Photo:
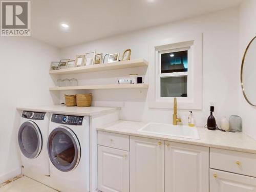
<path fill-rule="evenodd" d="M 52 114 L 47 148 L 51 187 L 88 192 L 89 117 Z"/>

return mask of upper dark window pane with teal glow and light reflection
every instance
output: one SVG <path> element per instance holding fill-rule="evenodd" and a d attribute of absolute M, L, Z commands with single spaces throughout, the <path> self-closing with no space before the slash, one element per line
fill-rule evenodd
<path fill-rule="evenodd" d="M 187 72 L 187 51 L 161 54 L 161 73 Z"/>

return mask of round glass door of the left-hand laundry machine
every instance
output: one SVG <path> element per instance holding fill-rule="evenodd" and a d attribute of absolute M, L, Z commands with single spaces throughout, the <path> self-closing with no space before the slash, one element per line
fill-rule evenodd
<path fill-rule="evenodd" d="M 29 159 L 36 158 L 42 149 L 42 135 L 33 121 L 24 122 L 18 131 L 18 145 L 23 155 Z"/>

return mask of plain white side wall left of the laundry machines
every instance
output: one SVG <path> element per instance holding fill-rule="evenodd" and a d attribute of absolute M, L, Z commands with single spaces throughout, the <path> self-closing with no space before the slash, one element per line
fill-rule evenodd
<path fill-rule="evenodd" d="M 59 50 L 32 37 L 0 37 L 0 183 L 20 173 L 17 106 L 52 104 L 50 62 Z"/>

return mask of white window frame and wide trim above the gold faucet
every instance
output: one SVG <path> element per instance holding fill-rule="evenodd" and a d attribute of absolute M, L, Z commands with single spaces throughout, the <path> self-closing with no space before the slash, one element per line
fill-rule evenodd
<path fill-rule="evenodd" d="M 188 50 L 188 71 L 161 74 L 161 54 Z M 177 97 L 179 109 L 202 109 L 202 33 L 163 39 L 150 46 L 149 107 L 173 109 L 174 97 L 161 97 L 161 77 L 187 75 L 187 97 Z"/>

